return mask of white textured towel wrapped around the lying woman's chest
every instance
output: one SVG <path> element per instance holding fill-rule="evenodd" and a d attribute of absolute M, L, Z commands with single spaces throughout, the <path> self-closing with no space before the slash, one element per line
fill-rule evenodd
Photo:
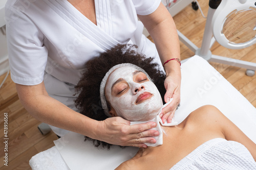
<path fill-rule="evenodd" d="M 175 169 L 256 169 L 256 162 L 243 144 L 215 138 L 201 144 L 170 168 Z"/>

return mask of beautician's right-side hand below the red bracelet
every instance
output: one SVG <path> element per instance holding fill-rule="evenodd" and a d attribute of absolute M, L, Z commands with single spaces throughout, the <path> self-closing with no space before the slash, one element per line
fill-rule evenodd
<path fill-rule="evenodd" d="M 166 77 L 164 81 L 164 87 L 166 89 L 166 93 L 164 95 L 164 101 L 169 102 L 170 98 L 173 98 L 173 101 L 170 102 L 165 108 L 162 109 L 160 113 L 160 117 L 165 123 L 171 123 L 174 113 L 176 111 L 177 106 L 180 103 L 180 81 L 181 78 L 179 76 L 170 75 Z"/>

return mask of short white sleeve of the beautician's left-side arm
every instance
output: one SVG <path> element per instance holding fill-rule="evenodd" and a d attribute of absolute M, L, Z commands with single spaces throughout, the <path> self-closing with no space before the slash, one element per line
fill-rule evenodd
<path fill-rule="evenodd" d="M 24 12 L 5 7 L 11 78 L 17 84 L 36 85 L 44 80 L 48 51 L 44 35 Z"/>

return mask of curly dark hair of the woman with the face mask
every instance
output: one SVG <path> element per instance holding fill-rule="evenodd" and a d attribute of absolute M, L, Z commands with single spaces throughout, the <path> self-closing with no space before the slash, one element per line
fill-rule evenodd
<path fill-rule="evenodd" d="M 132 63 L 144 69 L 157 86 L 163 99 L 166 92 L 164 88 L 164 72 L 160 71 L 159 64 L 153 62 L 154 58 L 146 58 L 145 55 L 137 53 L 135 48 L 137 48 L 137 46 L 132 44 L 118 44 L 111 50 L 101 53 L 99 57 L 92 58 L 84 65 L 86 70 L 83 72 L 82 78 L 75 86 L 76 94 L 79 93 L 75 100 L 75 105 L 81 114 L 95 120 L 104 120 L 108 118 L 101 107 L 99 92 L 100 83 L 110 68 L 121 63 Z M 85 136 L 85 138 L 85 140 L 92 140 L 95 147 L 101 145 L 102 148 L 110 149 L 110 146 L 112 145 L 103 141 L 91 139 L 87 136 Z"/>

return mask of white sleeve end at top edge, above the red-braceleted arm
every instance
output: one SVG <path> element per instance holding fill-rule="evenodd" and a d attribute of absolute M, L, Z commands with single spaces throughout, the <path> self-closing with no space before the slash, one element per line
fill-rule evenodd
<path fill-rule="evenodd" d="M 132 0 L 138 15 L 149 15 L 156 11 L 161 0 Z"/>

